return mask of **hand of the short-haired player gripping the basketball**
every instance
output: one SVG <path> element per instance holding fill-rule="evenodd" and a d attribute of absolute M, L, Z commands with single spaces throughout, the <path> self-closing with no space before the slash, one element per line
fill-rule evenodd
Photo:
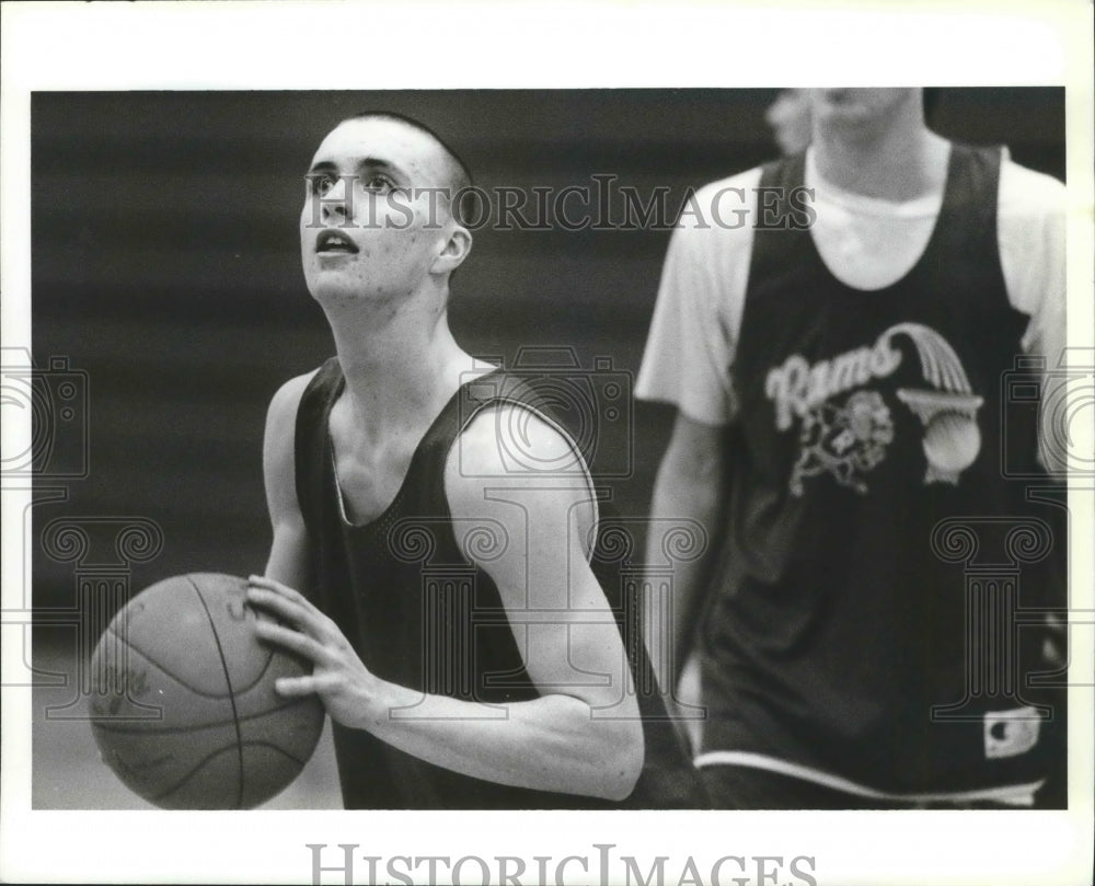
<path fill-rule="evenodd" d="M 358 657 L 346 635 L 302 594 L 272 578 L 247 578 L 247 600 L 276 615 L 284 624 L 260 620 L 255 632 L 312 663 L 306 677 L 281 677 L 275 689 L 281 695 L 316 693 L 331 718 L 344 726 L 364 728 L 373 716 L 381 681 Z"/>

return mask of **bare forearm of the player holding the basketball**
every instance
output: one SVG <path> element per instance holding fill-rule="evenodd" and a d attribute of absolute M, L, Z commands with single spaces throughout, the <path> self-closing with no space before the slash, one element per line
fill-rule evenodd
<path fill-rule="evenodd" d="M 485 705 L 377 681 L 353 724 L 406 753 L 476 779 L 620 801 L 643 767 L 636 717 L 593 720 L 558 693 Z"/>

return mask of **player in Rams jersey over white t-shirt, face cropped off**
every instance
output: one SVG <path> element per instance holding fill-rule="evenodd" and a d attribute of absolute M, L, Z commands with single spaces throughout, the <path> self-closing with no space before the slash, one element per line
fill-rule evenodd
<path fill-rule="evenodd" d="M 805 153 L 700 192 L 750 195 L 750 223 L 671 239 L 636 386 L 678 409 L 652 509 L 712 544 L 652 657 L 679 674 L 696 648 L 716 806 L 1029 805 L 1053 712 L 970 674 L 1039 665 L 967 640 L 963 566 L 932 539 L 1038 519 L 1001 470 L 1001 389 L 1063 347 L 1063 186 L 930 131 L 917 89 L 811 90 L 810 112 Z M 1008 459 L 1037 471 L 1035 424 Z M 994 538 L 982 562 L 1006 560 Z"/>

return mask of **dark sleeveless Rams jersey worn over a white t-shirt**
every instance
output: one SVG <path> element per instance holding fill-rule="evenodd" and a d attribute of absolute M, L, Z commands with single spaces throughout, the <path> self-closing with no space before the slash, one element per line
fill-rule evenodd
<path fill-rule="evenodd" d="M 988 516 L 978 556 L 1003 562 L 1030 511 L 1001 469 L 1027 318 L 1000 266 L 999 165 L 954 146 L 924 253 L 883 289 L 838 280 L 805 228 L 754 232 L 701 763 L 903 796 L 1038 783 L 1041 713 L 1010 679 L 1015 651 L 984 648 L 976 623 L 1017 603 L 986 608 L 1012 591 L 978 589 L 956 556 L 956 520 Z M 761 176 L 803 183 L 802 156 Z M 773 217 L 794 218 L 783 200 Z M 1034 424 L 1014 430 L 1008 458 L 1035 465 Z"/>

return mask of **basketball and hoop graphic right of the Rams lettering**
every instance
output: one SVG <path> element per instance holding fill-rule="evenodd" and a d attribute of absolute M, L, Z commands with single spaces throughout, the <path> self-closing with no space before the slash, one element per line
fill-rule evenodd
<path fill-rule="evenodd" d="M 898 399 L 924 425 L 924 483 L 957 484 L 981 451 L 977 411 L 984 400 L 969 387 L 966 370 L 947 341 L 918 323 L 892 326 L 889 335 L 903 333 L 920 355 L 920 369 L 932 389 L 899 388 Z"/>

